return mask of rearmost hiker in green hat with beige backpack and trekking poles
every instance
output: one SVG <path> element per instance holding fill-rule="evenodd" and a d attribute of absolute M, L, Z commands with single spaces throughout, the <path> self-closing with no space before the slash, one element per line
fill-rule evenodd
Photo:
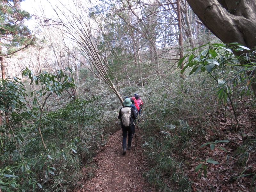
<path fill-rule="evenodd" d="M 123 155 L 126 154 L 126 137 L 128 132 L 128 144 L 127 149 L 132 147 L 132 130 L 135 124 L 136 113 L 135 110 L 130 107 L 132 102 L 129 98 L 126 98 L 123 102 L 124 107 L 119 110 L 118 119 L 121 120 L 121 127 L 123 130 Z"/>

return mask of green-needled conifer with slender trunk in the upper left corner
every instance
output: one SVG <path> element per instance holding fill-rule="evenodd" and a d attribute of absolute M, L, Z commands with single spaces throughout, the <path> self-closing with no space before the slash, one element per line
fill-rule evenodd
<path fill-rule="evenodd" d="M 4 56 L 27 47 L 31 43 L 31 34 L 24 20 L 30 14 L 20 9 L 22 0 L 3 0 L 0 4 L 0 62 L 2 78 L 5 79 Z"/>

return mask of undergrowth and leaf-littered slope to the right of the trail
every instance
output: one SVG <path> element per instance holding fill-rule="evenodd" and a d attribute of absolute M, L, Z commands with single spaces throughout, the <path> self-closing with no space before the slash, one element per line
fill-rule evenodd
<path fill-rule="evenodd" d="M 228 65 L 208 71 L 211 76 L 200 73 L 181 79 L 173 74 L 149 88 L 139 126 L 145 132 L 143 146 L 150 162 L 145 177 L 156 189 L 244 191 L 255 187 L 255 98 L 246 86 L 250 81 L 245 68 Z M 228 82 L 225 97 L 220 96 L 220 79 Z"/>

